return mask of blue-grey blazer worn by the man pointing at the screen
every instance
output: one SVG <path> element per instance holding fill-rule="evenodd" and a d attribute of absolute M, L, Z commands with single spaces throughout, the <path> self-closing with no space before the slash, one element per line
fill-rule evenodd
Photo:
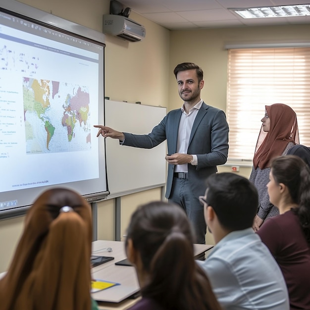
<path fill-rule="evenodd" d="M 181 115 L 181 109 L 168 112 L 148 135 L 124 132 L 123 145 L 152 149 L 167 140 L 168 154 L 176 153 Z M 205 195 L 207 177 L 217 171 L 217 165 L 224 164 L 227 160 L 228 131 L 225 113 L 203 103 L 195 118 L 187 151 L 188 154 L 196 154 L 198 157 L 197 166 L 188 164 L 189 185 L 196 197 Z M 175 165 L 168 165 L 166 198 L 169 198 L 171 193 L 174 167 Z"/>

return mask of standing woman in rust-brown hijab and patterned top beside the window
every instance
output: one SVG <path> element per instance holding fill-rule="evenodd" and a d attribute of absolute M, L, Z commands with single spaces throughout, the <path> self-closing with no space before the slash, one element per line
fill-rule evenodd
<path fill-rule="evenodd" d="M 265 116 L 258 135 L 250 181 L 258 190 L 258 213 L 253 229 L 257 231 L 263 221 L 279 214 L 277 207 L 269 201 L 267 183 L 269 182 L 270 161 L 299 143 L 297 117 L 294 110 L 283 103 L 265 106 Z"/>

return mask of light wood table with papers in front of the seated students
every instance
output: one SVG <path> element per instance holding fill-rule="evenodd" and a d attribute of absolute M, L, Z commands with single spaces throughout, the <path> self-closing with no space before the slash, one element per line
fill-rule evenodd
<path fill-rule="evenodd" d="M 210 250 L 213 245 L 194 244 L 194 255 L 198 257 Z M 111 251 L 111 252 L 108 252 Z M 118 283 L 113 287 L 92 293 L 101 310 L 126 310 L 139 300 L 140 286 L 133 266 L 115 265 L 126 258 L 123 241 L 97 240 L 92 244 L 92 255 L 113 257 L 101 265 L 92 268 L 95 280 Z"/>

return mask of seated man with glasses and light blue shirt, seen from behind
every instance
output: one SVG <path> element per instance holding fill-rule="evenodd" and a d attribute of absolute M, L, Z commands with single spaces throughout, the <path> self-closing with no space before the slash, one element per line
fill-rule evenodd
<path fill-rule="evenodd" d="M 201 265 L 218 302 L 226 310 L 288 310 L 282 272 L 252 228 L 255 186 L 229 172 L 209 176 L 206 184 L 200 200 L 215 246 Z"/>

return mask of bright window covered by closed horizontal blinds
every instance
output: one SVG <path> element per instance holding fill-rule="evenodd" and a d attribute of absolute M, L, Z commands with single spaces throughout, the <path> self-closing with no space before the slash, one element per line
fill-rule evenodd
<path fill-rule="evenodd" d="M 310 48 L 229 50 L 229 159 L 253 159 L 265 105 L 273 103 L 292 107 L 300 143 L 310 146 Z"/>

